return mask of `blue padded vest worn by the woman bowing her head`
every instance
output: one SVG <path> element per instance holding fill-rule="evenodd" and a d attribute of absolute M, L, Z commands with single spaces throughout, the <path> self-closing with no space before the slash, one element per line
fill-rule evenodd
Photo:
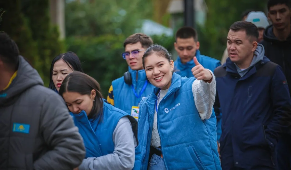
<path fill-rule="evenodd" d="M 127 116 L 132 124 L 134 136 L 138 143 L 135 148 L 135 162 L 133 170 L 140 170 L 141 150 L 138 142 L 137 122 L 132 116 L 118 108 L 115 108 L 111 104 L 108 104 L 106 100 L 104 100 L 103 104 L 103 120 L 100 123 L 98 123 L 100 117 L 94 120 L 88 120 L 85 111 L 82 111 L 79 114 L 70 114 L 74 119 L 75 125 L 79 128 L 79 133 L 83 137 L 86 148 L 85 158 L 100 157 L 113 153 L 114 143 L 112 136 L 114 129 L 118 121 L 122 117 Z"/>

